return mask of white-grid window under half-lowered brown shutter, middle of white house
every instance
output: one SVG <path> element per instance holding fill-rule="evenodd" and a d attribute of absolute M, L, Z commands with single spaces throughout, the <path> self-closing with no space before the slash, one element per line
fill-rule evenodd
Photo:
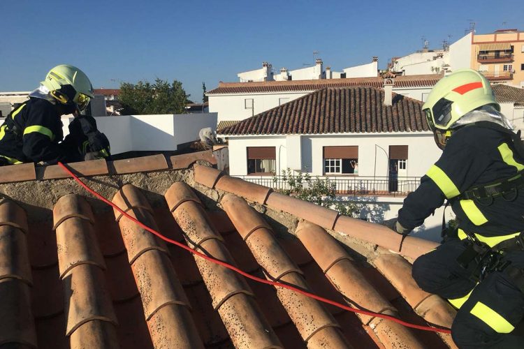
<path fill-rule="evenodd" d="M 358 174 L 358 146 L 323 147 L 324 174 Z"/>

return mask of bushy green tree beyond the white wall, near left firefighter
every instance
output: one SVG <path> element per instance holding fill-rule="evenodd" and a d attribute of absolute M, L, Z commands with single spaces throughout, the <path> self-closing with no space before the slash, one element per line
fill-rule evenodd
<path fill-rule="evenodd" d="M 124 114 L 182 114 L 189 103 L 189 94 L 182 88 L 182 82 L 173 84 L 158 79 L 154 84 L 139 81 L 136 84 L 122 82 L 118 101 Z"/>

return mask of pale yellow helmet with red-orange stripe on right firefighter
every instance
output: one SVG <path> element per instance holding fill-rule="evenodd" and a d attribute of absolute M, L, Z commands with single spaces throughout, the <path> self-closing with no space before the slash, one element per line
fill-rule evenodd
<path fill-rule="evenodd" d="M 422 110 L 425 112 L 428 126 L 435 133 L 435 142 L 444 149 L 453 124 L 468 112 L 483 105 L 493 105 L 500 111 L 500 105 L 486 77 L 476 70 L 463 69 L 439 80 Z"/>

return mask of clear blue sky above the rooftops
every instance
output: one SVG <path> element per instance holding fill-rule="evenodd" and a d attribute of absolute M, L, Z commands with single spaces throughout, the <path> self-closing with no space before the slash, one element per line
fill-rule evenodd
<path fill-rule="evenodd" d="M 524 30 L 522 0 L 154 1 L 0 0 L 0 91 L 29 91 L 57 64 L 73 64 L 95 88 L 180 80 L 190 99 L 269 61 L 333 70 L 502 27 Z M 503 23 L 506 23 L 505 25 Z"/>

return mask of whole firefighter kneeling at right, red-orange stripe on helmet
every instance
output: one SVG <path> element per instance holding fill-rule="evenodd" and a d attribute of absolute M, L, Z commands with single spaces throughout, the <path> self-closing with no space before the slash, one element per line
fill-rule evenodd
<path fill-rule="evenodd" d="M 458 229 L 415 260 L 416 283 L 458 309 L 451 335 L 459 348 L 524 348 L 511 333 L 524 314 L 520 133 L 475 70 L 439 80 L 423 112 L 444 151 L 388 225 L 407 235 L 447 200 Z"/>

